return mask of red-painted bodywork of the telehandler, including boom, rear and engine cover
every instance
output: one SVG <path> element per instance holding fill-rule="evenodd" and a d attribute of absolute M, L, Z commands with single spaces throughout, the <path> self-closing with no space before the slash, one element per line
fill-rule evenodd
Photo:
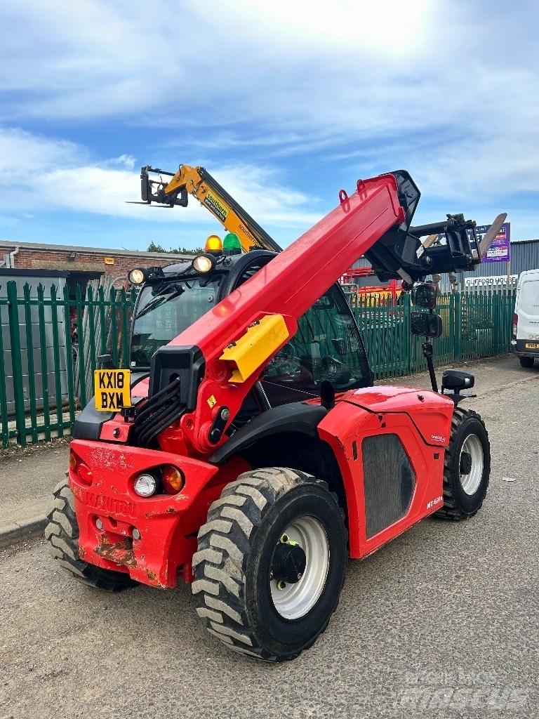
<path fill-rule="evenodd" d="M 226 483 L 249 469 L 237 457 L 221 466 L 207 461 L 216 446 L 227 441 L 224 435 L 219 444 L 211 443 L 211 423 L 222 406 L 230 409 L 230 421 L 234 418 L 265 366 L 246 382 L 231 383 L 230 367 L 219 359 L 224 347 L 244 334 L 254 320 L 270 313 L 281 314 L 293 336 L 298 318 L 351 262 L 403 220 L 393 175 L 358 183 L 354 195 L 343 197 L 328 216 L 172 340 L 170 344 L 199 347 L 206 370 L 195 410 L 159 435 L 162 451 L 126 446 L 129 423 L 119 415 L 103 424 L 100 441 L 73 440 L 78 462 L 91 470 L 89 480 L 88 473 L 83 478 L 77 467 L 69 474 L 80 528 L 80 557 L 105 569 L 129 572 L 134 580 L 157 587 L 175 586 L 180 570 L 186 581 L 191 580 L 196 535 L 209 505 Z M 134 394 L 147 396 L 147 392 L 146 380 Z M 212 395 L 215 406 L 208 403 Z M 352 557 L 370 554 L 441 505 L 443 448 L 448 444 L 452 414 L 453 402 L 432 392 L 367 388 L 341 395 L 318 425 L 320 439 L 333 449 L 341 470 Z M 367 539 L 361 441 L 384 433 L 399 436 L 418 481 L 405 516 Z M 140 498 L 132 487 L 134 478 L 162 464 L 182 470 L 185 487 L 177 495 Z"/>

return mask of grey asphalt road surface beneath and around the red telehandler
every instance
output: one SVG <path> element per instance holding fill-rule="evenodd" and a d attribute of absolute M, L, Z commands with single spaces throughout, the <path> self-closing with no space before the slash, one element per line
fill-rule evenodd
<path fill-rule="evenodd" d="M 539 367 L 477 376 L 467 406 L 493 455 L 481 513 L 350 562 L 326 633 L 293 662 L 227 651 L 188 587 L 107 595 L 42 541 L 1 551 L 0 719 L 536 717 Z"/>

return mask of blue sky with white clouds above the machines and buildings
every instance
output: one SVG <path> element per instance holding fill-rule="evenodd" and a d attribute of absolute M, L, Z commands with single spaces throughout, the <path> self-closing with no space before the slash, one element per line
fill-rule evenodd
<path fill-rule="evenodd" d="M 203 165 L 277 242 L 405 168 L 416 222 L 507 211 L 539 237 L 539 4 L 17 0 L 0 8 L 0 239 L 195 247 L 195 201 L 128 205 L 140 165 Z"/>

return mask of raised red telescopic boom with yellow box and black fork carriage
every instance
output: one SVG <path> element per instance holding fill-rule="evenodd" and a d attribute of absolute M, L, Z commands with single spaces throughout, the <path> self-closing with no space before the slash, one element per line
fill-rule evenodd
<path fill-rule="evenodd" d="M 197 191 L 185 173 L 180 168 L 180 179 L 168 184 L 170 196 L 188 188 Z M 200 170 L 195 173 L 201 177 Z M 206 186 L 201 197 L 208 191 Z M 468 234 L 471 230 L 473 242 L 475 223 L 463 216 L 449 216 L 436 227 L 410 228 L 419 195 L 404 170 L 358 180 L 351 196 L 341 190 L 336 209 L 158 349 L 144 413 L 151 413 L 157 402 L 156 415 L 163 419 L 153 436 L 170 427 L 161 435 L 162 446 L 172 433 L 168 436 L 202 457 L 225 441 L 241 403 L 267 362 L 295 335 L 300 316 L 361 255 L 371 260 L 381 279 L 402 277 L 410 283 L 479 264 L 479 247 L 475 242 L 472 249 Z M 424 248 L 419 237 L 437 231 L 446 234 L 447 244 Z M 174 397 L 170 403 L 163 399 L 167 392 Z"/>

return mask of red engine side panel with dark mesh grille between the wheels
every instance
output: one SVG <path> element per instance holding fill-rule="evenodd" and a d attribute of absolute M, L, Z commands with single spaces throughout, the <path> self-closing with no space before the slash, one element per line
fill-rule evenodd
<path fill-rule="evenodd" d="M 376 551 L 443 503 L 443 446 L 425 441 L 410 409 L 374 413 L 341 401 L 318 425 L 344 480 L 350 554 L 356 559 Z M 441 436 L 445 431 L 448 436 L 451 418 L 443 413 L 442 420 L 433 424 L 433 433 Z"/>

